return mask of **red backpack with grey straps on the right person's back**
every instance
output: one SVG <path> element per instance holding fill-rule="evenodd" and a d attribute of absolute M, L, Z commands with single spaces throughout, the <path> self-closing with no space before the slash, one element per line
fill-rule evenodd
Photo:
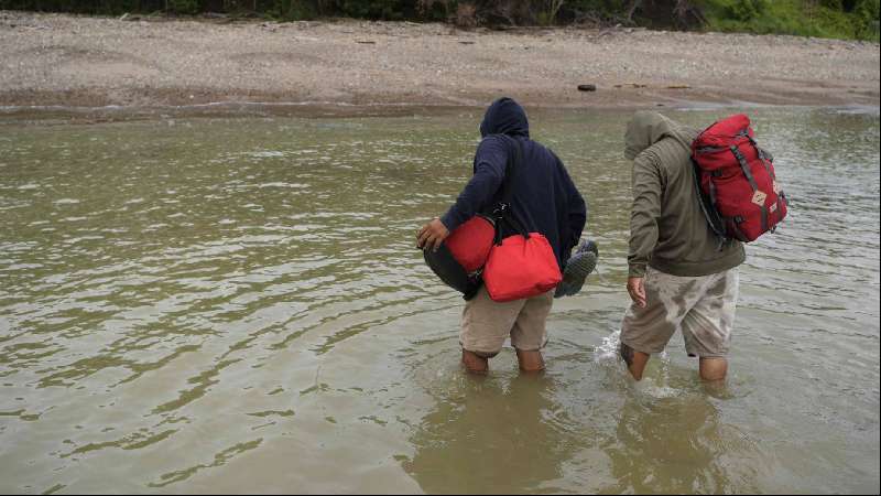
<path fill-rule="evenodd" d="M 749 117 L 731 116 L 705 129 L 692 142 L 692 159 L 704 214 L 721 238 L 753 241 L 786 216 L 786 195 Z"/>

